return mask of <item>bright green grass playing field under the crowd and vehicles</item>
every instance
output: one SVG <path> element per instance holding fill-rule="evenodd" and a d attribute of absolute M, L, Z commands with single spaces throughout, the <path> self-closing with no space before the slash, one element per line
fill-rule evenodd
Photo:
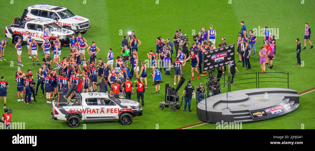
<path fill-rule="evenodd" d="M 13 1 L 13 0 L 12 0 Z M 14 49 L 14 44 L 11 39 L 5 38 L 4 27 L 12 22 L 14 17 L 21 17 L 25 8 L 35 4 L 47 3 L 66 7 L 76 15 L 86 17 L 90 20 L 91 29 L 83 34 L 90 45 L 92 41 L 96 42 L 96 46 L 100 48 L 100 53 L 97 57 L 106 58 L 108 47 L 112 47 L 114 53 L 120 54 L 121 41 L 123 35 L 127 35 L 130 30 L 135 31 L 137 38 L 142 42 L 139 47 L 139 59 L 144 61 L 147 59 L 146 53 L 149 50 L 155 50 L 156 37 L 162 36 L 164 39 L 171 38 L 175 35 L 175 30 L 181 29 L 183 34 L 189 36 L 192 41 L 192 32 L 201 30 L 201 27 L 206 27 L 209 30 L 209 25 L 213 24 L 217 32 L 216 47 L 221 42 L 221 37 L 226 38 L 227 44 L 237 42 L 238 31 L 241 28 L 240 21 L 244 21 L 247 26 L 247 31 L 263 28 L 276 28 L 278 30 L 278 39 L 276 39 L 277 51 L 274 60 L 274 68 L 272 72 L 288 72 L 289 73 L 289 88 L 298 92 L 303 92 L 315 87 L 315 61 L 314 49 L 309 49 L 307 43 L 306 50 L 301 52 L 301 60 L 304 61 L 304 67 L 295 65 L 296 63 L 296 43 L 295 39 L 300 38 L 301 45 L 304 47 L 304 28 L 305 23 L 308 23 L 311 28 L 315 28 L 314 1 L 305 0 L 305 4 L 301 4 L 300 0 L 283 1 L 274 0 L 232 0 L 232 4 L 228 0 L 213 0 L 213 1 L 198 1 L 189 0 L 159 0 L 158 4 L 155 0 L 145 1 L 106 1 L 106 0 L 38 0 L 38 1 L 14 1 L 10 4 L 9 1 L 1 3 L 0 12 L 1 19 L 0 27 L 2 34 L 0 40 L 6 39 L 9 44 L 5 48 L 6 62 L 0 62 L 0 76 L 4 76 L 9 83 L 7 108 L 13 108 L 13 122 L 25 122 L 26 129 L 69 129 L 65 121 L 49 120 L 51 117 L 51 105 L 45 102 L 45 96 L 37 95 L 38 102 L 32 104 L 24 104 L 17 102 L 15 72 L 17 68 L 17 54 Z M 307 11 L 306 11 L 307 10 Z M 307 12 L 307 13 L 306 13 Z M 123 35 L 120 35 L 120 30 Z M 274 34 L 274 33 L 273 33 Z M 263 46 L 263 36 L 257 37 L 256 52 Z M 311 41 L 315 41 L 311 37 Z M 191 45 L 189 46 L 191 47 Z M 24 67 L 21 67 L 22 72 L 26 73 L 27 69 L 32 69 L 33 74 L 38 71 L 37 65 L 32 66 L 31 59 L 27 56 L 26 45 L 22 46 L 22 62 Z M 69 51 L 69 47 L 62 47 L 62 57 Z M 174 48 L 175 49 L 175 48 Z M 41 51 L 41 49 L 40 49 Z M 39 51 L 39 52 L 40 52 Z M 87 52 L 86 52 L 87 53 Z M 42 56 L 39 53 L 39 60 Z M 88 56 L 88 54 L 86 54 Z M 175 55 L 173 54 L 173 59 Z M 236 57 L 238 60 L 238 56 Z M 10 66 L 10 62 L 14 62 L 14 66 Z M 250 58 L 252 69 L 246 71 L 241 68 L 241 63 L 237 63 L 239 73 L 261 72 L 259 55 Z M 42 64 L 42 62 L 40 62 Z M 189 62 L 188 62 L 189 63 Z M 184 78 L 190 79 L 191 72 L 188 65 L 184 67 Z M 148 68 L 148 73 L 151 69 Z M 171 70 L 171 75 L 165 76 L 162 74 L 163 81 L 174 82 L 174 70 Z M 196 73 L 195 73 L 196 74 Z M 228 74 L 229 75 L 229 74 Z M 195 75 L 195 77 L 197 77 Z M 236 78 L 237 79 L 237 78 Z M 36 80 L 37 81 L 37 80 Z M 205 76 L 200 79 L 195 78 L 192 85 L 195 88 L 201 83 L 206 82 Z M 87 129 L 155 129 L 158 124 L 159 129 L 175 129 L 196 123 L 200 123 L 196 114 L 196 99 L 192 100 L 192 112 L 183 112 L 170 109 L 159 109 L 159 102 L 164 99 L 164 84 L 161 84 L 161 94 L 155 94 L 155 88 L 151 85 L 152 77 L 148 76 L 148 89 L 145 93 L 146 105 L 143 107 L 143 116 L 134 118 L 131 125 L 123 126 L 119 122 L 99 122 L 87 123 Z M 286 88 L 284 83 L 265 83 L 261 87 L 282 87 Z M 238 85 L 232 87 L 232 90 L 250 89 L 253 85 Z M 180 89 L 180 93 L 184 86 Z M 225 91 L 225 90 L 224 90 Z M 315 91 L 302 95 L 300 97 L 300 106 L 294 112 L 278 118 L 243 123 L 243 129 L 300 129 L 301 124 L 305 125 L 306 129 L 314 129 L 315 119 Z M 136 99 L 136 95 L 132 96 Z M 0 105 L 3 105 L 1 98 Z M 182 109 L 182 108 L 181 108 Z M 0 113 L 2 114 L 3 111 Z M 192 129 L 215 129 L 215 124 L 204 124 Z M 83 125 L 77 129 L 82 129 Z"/>

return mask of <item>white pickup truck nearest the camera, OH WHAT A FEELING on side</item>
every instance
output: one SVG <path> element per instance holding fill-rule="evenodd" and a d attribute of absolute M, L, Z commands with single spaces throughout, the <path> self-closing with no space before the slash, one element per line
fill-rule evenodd
<path fill-rule="evenodd" d="M 78 127 L 80 121 L 119 120 L 129 125 L 133 117 L 142 115 L 140 104 L 133 100 L 117 99 L 106 93 L 76 94 L 71 100 L 59 95 L 52 103 L 52 119 L 66 120 L 70 127 Z"/>

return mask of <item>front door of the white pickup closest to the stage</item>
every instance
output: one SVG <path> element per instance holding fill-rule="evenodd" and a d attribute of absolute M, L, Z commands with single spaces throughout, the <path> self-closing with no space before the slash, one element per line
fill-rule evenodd
<path fill-rule="evenodd" d="M 100 119 L 111 119 L 118 117 L 119 106 L 108 98 L 100 99 Z"/>

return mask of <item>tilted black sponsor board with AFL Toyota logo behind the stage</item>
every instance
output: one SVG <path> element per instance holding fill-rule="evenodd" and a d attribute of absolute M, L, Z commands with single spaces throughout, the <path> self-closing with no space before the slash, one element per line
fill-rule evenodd
<path fill-rule="evenodd" d="M 203 52 L 203 71 L 226 66 L 230 61 L 234 62 L 234 53 L 234 44 Z"/>

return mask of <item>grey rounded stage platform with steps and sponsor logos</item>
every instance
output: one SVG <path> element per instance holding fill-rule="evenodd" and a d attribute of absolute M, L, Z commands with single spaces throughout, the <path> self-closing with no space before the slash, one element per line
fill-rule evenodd
<path fill-rule="evenodd" d="M 299 106 L 299 95 L 283 88 L 244 89 L 228 92 L 227 101 L 231 110 L 224 109 L 226 93 L 200 101 L 198 118 L 210 123 L 266 120 L 294 111 Z"/>

